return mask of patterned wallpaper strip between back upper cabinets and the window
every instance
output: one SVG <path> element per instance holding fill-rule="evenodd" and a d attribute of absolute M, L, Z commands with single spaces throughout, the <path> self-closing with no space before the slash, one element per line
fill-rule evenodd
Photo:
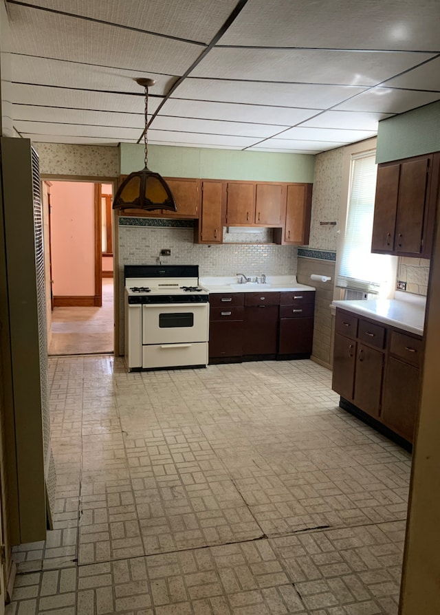
<path fill-rule="evenodd" d="M 321 226 L 320 222 L 338 222 L 343 153 L 344 148 L 339 147 L 316 156 L 311 203 L 310 248 L 336 250 L 338 225 Z"/>

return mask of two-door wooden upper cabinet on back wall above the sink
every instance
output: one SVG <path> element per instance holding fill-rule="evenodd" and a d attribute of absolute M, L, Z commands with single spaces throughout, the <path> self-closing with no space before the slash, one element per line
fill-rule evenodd
<path fill-rule="evenodd" d="M 228 182 L 227 226 L 281 226 L 285 216 L 285 184 Z"/>

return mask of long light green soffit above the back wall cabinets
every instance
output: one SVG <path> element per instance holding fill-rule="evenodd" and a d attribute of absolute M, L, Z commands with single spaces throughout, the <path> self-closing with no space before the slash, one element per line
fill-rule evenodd
<path fill-rule="evenodd" d="M 121 174 L 127 175 L 143 167 L 144 146 L 121 143 Z M 165 177 L 312 183 L 315 157 L 310 154 L 149 145 L 148 168 Z"/>

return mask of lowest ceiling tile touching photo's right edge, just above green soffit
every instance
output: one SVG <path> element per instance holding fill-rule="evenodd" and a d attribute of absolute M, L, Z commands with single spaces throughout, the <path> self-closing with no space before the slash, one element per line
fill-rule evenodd
<path fill-rule="evenodd" d="M 338 105 L 336 109 L 347 111 L 379 111 L 380 113 L 401 114 L 404 111 L 428 105 L 440 100 L 440 92 L 424 92 L 415 89 L 392 89 L 374 87 L 351 100 Z"/>

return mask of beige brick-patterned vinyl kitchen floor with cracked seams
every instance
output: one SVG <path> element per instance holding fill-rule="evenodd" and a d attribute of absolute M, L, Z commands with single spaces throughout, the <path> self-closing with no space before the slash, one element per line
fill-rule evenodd
<path fill-rule="evenodd" d="M 54 530 L 7 615 L 397 614 L 410 455 L 308 360 L 50 359 Z"/>

